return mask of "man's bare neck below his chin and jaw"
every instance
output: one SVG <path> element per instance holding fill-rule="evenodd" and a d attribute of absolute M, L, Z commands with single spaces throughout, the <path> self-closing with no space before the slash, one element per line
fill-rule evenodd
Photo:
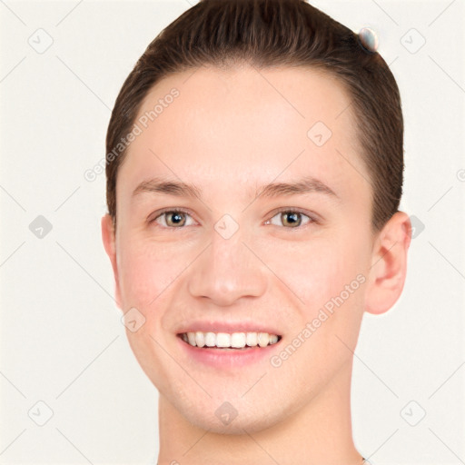
<path fill-rule="evenodd" d="M 249 434 L 217 434 L 185 420 L 159 400 L 158 465 L 361 465 L 351 435 L 351 363 L 307 404 L 272 427 Z"/>

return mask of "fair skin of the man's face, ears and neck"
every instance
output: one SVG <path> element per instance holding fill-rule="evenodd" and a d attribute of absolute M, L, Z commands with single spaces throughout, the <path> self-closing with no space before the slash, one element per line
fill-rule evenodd
<path fill-rule="evenodd" d="M 363 312 L 386 312 L 401 295 L 409 217 L 395 213 L 371 232 L 370 176 L 354 116 L 350 108 L 341 113 L 350 99 L 331 76 L 203 67 L 156 84 L 140 115 L 173 87 L 179 97 L 136 137 L 120 167 L 116 232 L 109 215 L 102 219 L 117 304 L 145 317 L 126 333 L 160 392 L 158 463 L 361 463 L 351 437 L 352 351 Z M 318 121 L 332 132 L 321 147 L 307 136 Z M 302 175 L 337 197 L 254 193 Z M 193 183 L 203 195 L 132 198 L 153 176 Z M 184 225 L 173 214 L 148 222 L 165 207 L 188 210 Z M 276 212 L 292 208 L 304 211 L 297 227 Z M 214 229 L 225 213 L 239 225 L 229 239 Z M 280 328 L 272 352 L 279 354 L 360 274 L 360 287 L 280 367 L 265 358 L 214 370 L 180 350 L 184 322 L 252 321 Z M 238 412 L 228 425 L 215 415 L 224 401 Z"/>

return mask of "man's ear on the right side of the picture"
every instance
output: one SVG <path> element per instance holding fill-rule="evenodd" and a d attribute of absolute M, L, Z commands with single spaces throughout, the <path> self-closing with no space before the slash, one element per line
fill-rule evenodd
<path fill-rule="evenodd" d="M 411 244 L 411 220 L 394 213 L 374 242 L 365 311 L 380 314 L 399 299 L 407 274 L 407 252 Z"/>

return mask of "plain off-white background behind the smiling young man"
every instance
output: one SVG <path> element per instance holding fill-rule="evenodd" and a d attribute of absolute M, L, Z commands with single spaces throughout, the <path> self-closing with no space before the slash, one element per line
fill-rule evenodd
<path fill-rule="evenodd" d="M 354 31 L 377 32 L 406 124 L 401 207 L 424 226 L 400 301 L 363 320 L 354 439 L 372 464 L 464 463 L 465 5 L 313 5 Z M 104 157 L 126 75 L 189 6 L 0 3 L 0 463 L 130 464 L 157 455 L 157 394 L 125 339 L 101 241 L 104 174 L 91 183 L 84 171 Z M 47 35 L 53 44 L 39 54 L 28 40 L 45 45 Z M 29 229 L 38 215 L 52 224 L 42 239 Z M 38 426 L 48 409 L 52 418 Z"/>

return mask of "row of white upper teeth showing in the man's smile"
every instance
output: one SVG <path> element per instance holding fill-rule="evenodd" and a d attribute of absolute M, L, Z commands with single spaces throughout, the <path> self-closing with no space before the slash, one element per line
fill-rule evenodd
<path fill-rule="evenodd" d="M 241 349 L 249 347 L 266 347 L 268 344 L 275 344 L 278 341 L 276 334 L 268 332 L 184 332 L 183 340 L 193 346 L 207 347 L 233 347 Z"/>

